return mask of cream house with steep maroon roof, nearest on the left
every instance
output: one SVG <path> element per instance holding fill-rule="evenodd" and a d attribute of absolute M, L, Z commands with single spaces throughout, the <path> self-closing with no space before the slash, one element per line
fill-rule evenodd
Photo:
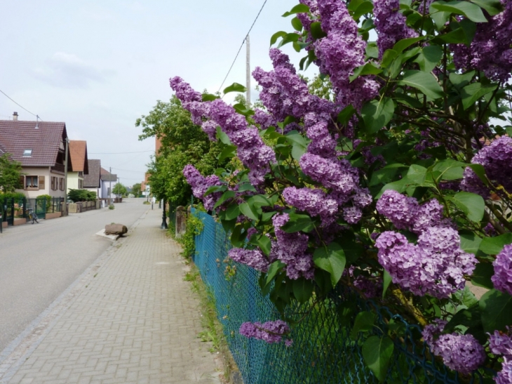
<path fill-rule="evenodd" d="M 29 198 L 41 194 L 65 197 L 65 141 L 66 124 L 53 121 L 0 120 L 0 143 L 13 161 L 22 165 L 20 183 Z M 72 167 L 68 155 L 68 167 Z"/>

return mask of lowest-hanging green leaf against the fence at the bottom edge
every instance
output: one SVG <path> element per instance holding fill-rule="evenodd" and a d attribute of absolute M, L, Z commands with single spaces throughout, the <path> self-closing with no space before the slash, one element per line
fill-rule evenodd
<path fill-rule="evenodd" d="M 395 345 L 388 336 L 371 336 L 363 344 L 363 358 L 375 377 L 382 383 L 387 376 Z"/>

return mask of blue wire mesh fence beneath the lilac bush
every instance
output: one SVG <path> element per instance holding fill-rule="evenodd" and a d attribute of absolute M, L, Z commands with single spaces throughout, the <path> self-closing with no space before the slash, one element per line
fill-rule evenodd
<path fill-rule="evenodd" d="M 356 303 L 356 312 L 370 310 L 370 307 L 377 310 L 375 335 L 389 329 L 390 322 L 386 319 L 392 319 L 394 329 L 399 329 L 400 337 L 395 340 L 386 383 L 471 384 L 489 380 L 483 379 L 483 371 L 476 372 L 471 378 L 459 377 L 433 359 L 426 345 L 415 341 L 419 339 L 418 326 L 407 324 L 386 307 L 379 307 L 371 300 L 363 301 L 346 289 L 332 293 L 313 309 L 311 303 L 288 307 L 287 317 L 300 320 L 292 327 L 290 347 L 241 336 L 238 329 L 243 322 L 275 320 L 278 311 L 268 297 L 262 296 L 259 273 L 227 257 L 231 244 L 222 225 L 206 213 L 194 209 L 192 212 L 204 224 L 203 231 L 196 237 L 194 263 L 203 282 L 213 292 L 217 316 L 243 383 L 378 383 L 361 352 L 368 334 L 359 333 L 356 339 L 349 336 L 351 326 L 346 326 L 342 315 L 347 303 Z M 349 322 L 353 324 L 353 318 Z"/>

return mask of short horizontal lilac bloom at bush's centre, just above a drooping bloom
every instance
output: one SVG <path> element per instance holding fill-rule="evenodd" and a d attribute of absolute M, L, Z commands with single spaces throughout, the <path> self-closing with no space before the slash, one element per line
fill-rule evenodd
<path fill-rule="evenodd" d="M 287 187 L 283 190 L 286 204 L 295 206 L 299 211 L 306 211 L 311 216 L 320 216 L 322 225 L 330 225 L 336 220 L 338 204 L 323 190 Z"/>

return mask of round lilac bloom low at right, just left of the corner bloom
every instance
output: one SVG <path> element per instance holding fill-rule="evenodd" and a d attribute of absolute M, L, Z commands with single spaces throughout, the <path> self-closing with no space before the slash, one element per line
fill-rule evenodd
<path fill-rule="evenodd" d="M 436 340 L 434 335 L 442 332 L 446 324 L 444 320 L 436 319 L 435 324 L 426 325 L 423 339 L 434 355 L 443 357 L 448 368 L 469 374 L 483 364 L 485 350 L 470 334 L 450 333 L 440 335 Z"/>

